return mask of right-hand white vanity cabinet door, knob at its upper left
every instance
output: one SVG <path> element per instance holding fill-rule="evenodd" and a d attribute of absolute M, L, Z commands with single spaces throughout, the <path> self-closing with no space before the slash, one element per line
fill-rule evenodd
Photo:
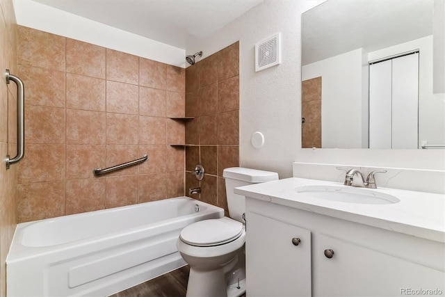
<path fill-rule="evenodd" d="M 313 234 L 312 247 L 314 296 L 403 296 L 416 289 L 445 290 L 443 271 L 321 234 Z M 325 257 L 325 249 L 334 250 L 332 258 Z"/>

